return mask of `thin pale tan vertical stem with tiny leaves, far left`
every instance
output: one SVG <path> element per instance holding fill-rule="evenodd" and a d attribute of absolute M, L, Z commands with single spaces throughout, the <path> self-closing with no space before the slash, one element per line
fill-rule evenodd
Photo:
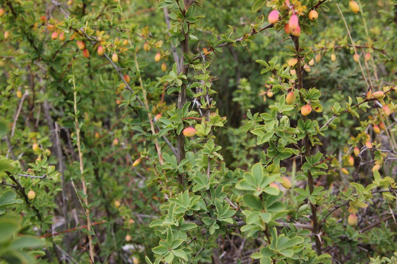
<path fill-rule="evenodd" d="M 74 65 L 72 66 L 72 70 L 73 70 L 73 106 L 74 106 L 74 112 L 75 112 L 77 150 L 79 151 L 81 182 L 83 184 L 83 193 L 85 196 L 83 198 L 83 201 L 86 206 L 85 214 L 87 217 L 87 237 L 88 237 L 88 244 L 89 244 L 90 259 L 91 259 L 91 262 L 94 263 L 94 247 L 93 247 L 93 238 L 91 237 L 90 209 L 88 207 L 87 186 L 85 185 L 85 179 L 84 179 L 83 153 L 81 152 L 81 143 L 80 143 L 80 127 L 79 127 L 79 120 L 77 118 L 77 91 L 76 91 L 76 82 L 75 82 L 75 74 L 74 74 Z"/>

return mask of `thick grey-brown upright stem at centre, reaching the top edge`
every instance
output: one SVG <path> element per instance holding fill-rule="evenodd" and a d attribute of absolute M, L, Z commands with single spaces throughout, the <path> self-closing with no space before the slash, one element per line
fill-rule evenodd
<path fill-rule="evenodd" d="M 183 3 L 185 4 L 185 9 L 183 10 L 183 12 L 185 13 L 186 9 L 189 8 L 189 0 L 183 0 Z M 183 53 L 189 52 L 189 25 L 187 25 L 187 32 L 185 32 L 185 30 L 183 30 L 182 27 L 182 33 L 184 36 L 184 40 L 181 41 L 181 56 L 180 56 L 179 65 L 181 68 L 181 72 L 187 75 L 187 70 L 189 68 L 188 65 L 184 65 L 185 58 L 183 57 Z M 185 103 L 186 103 L 186 84 L 182 83 L 181 92 L 178 94 L 178 108 L 182 109 Z M 183 133 L 177 135 L 176 153 L 177 153 L 177 157 L 176 157 L 177 162 L 179 164 L 179 162 L 181 162 L 181 160 L 185 158 L 185 136 L 183 135 Z M 182 174 L 178 174 L 178 184 L 184 186 L 184 177 Z"/>

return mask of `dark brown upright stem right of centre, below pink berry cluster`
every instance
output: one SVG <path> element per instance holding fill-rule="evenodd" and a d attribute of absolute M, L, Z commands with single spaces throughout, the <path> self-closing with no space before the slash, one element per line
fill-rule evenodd
<path fill-rule="evenodd" d="M 294 37 L 293 38 L 294 43 L 295 43 L 295 49 L 299 53 L 299 38 Z M 299 62 L 299 65 L 297 66 L 297 76 L 298 76 L 298 84 L 299 84 L 299 89 L 303 88 L 303 81 L 302 81 L 302 66 L 301 63 Z M 304 122 L 306 122 L 307 117 L 303 116 Z M 309 143 L 309 136 L 306 134 L 304 136 L 304 154 L 307 157 L 310 157 L 310 143 Z M 307 171 L 307 179 L 308 179 L 308 185 L 309 185 L 309 191 L 310 194 L 313 192 L 313 177 L 310 171 Z M 317 220 L 317 208 L 314 204 L 310 203 L 310 208 L 312 210 L 312 220 L 313 220 L 313 229 L 314 229 L 314 239 L 316 240 L 316 249 L 317 249 L 317 254 L 321 255 L 321 241 L 320 237 L 318 236 L 319 234 L 319 226 L 318 226 L 318 220 Z"/>

